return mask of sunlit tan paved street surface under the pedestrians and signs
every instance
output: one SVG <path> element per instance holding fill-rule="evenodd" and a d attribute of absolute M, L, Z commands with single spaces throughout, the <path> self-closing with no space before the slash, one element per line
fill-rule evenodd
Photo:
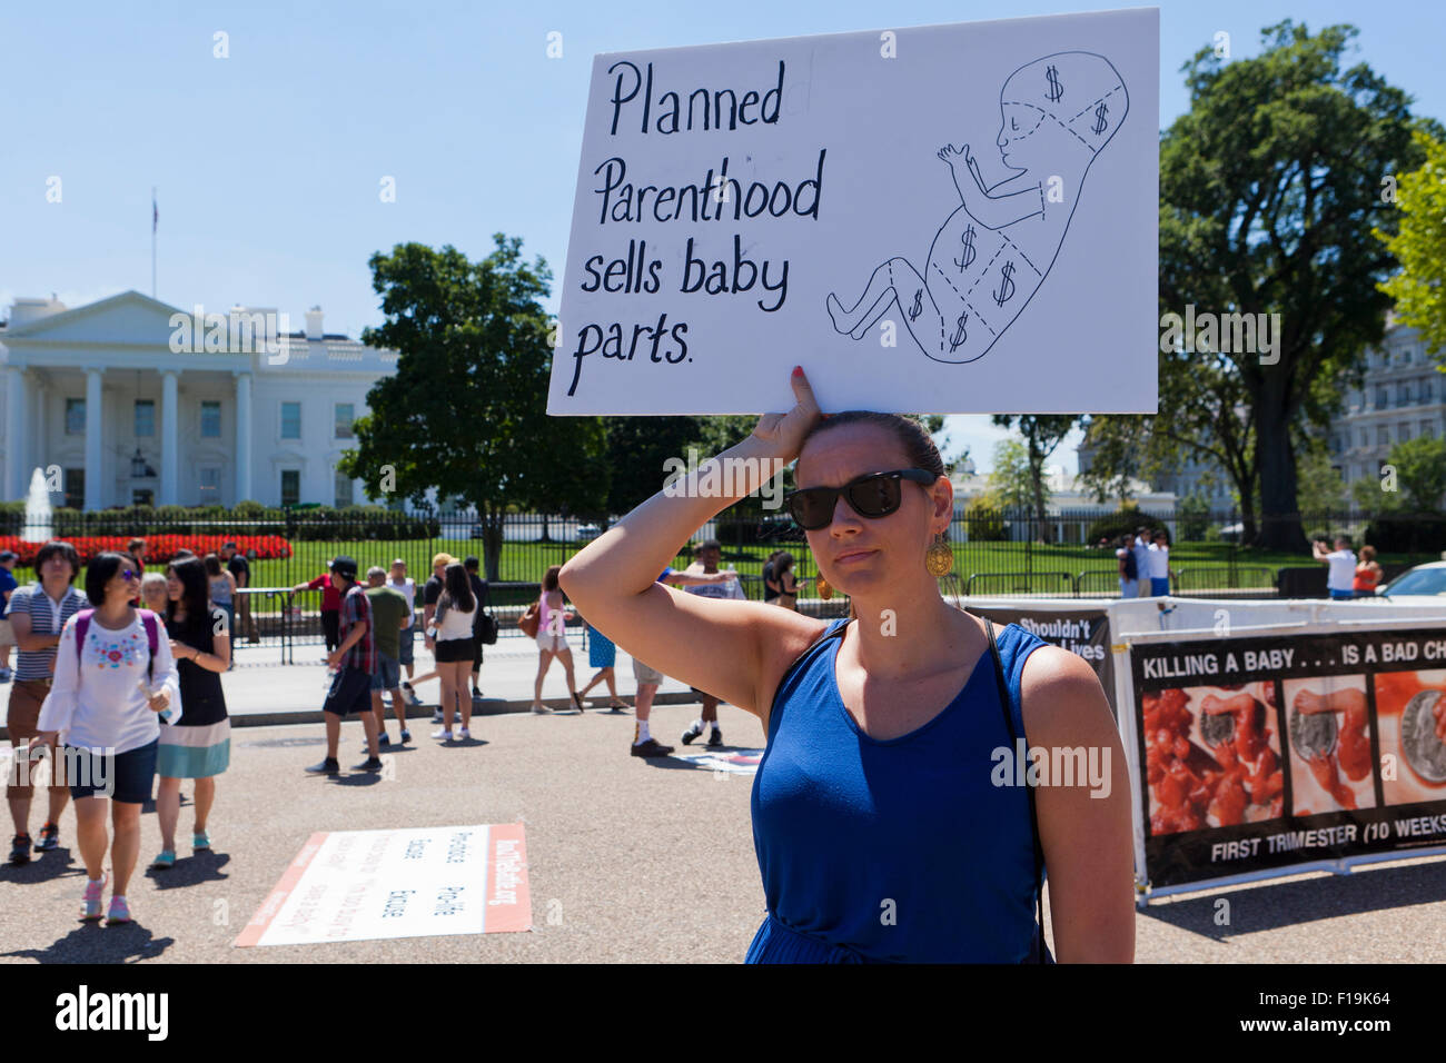
<path fill-rule="evenodd" d="M 489 648 L 489 654 L 493 651 Z M 555 668 L 555 667 L 554 667 Z M 531 697 L 535 654 L 518 642 L 489 657 L 483 688 Z M 227 680 L 239 722 L 259 712 L 315 712 L 322 668 L 241 667 Z M 626 658 L 620 693 L 632 696 Z M 674 684 L 674 694 L 688 697 Z M 564 696 L 555 670 L 548 687 Z M 551 699 L 549 699 L 551 700 Z M 500 706 L 499 706 L 500 707 Z M 696 713 L 662 704 L 654 732 L 677 745 Z M 735 748 L 762 742 L 758 722 L 720 710 Z M 82 871 L 74 814 L 62 848 L 25 868 L 0 868 L 0 962 L 737 962 L 763 914 L 753 859 L 748 777 L 678 759 L 628 756 L 628 714 L 503 713 L 476 722 L 477 740 L 442 748 L 414 722 L 395 778 L 302 774 L 322 755 L 318 723 L 239 726 L 218 784 L 213 855 L 137 872 L 136 924 L 77 920 Z M 395 735 L 395 723 L 393 723 Z M 362 727 L 343 729 L 341 764 L 362 759 Z M 683 752 L 680 746 L 680 752 Z M 189 787 L 185 787 L 189 793 Z M 236 949 L 231 942 L 314 832 L 523 823 L 535 928 L 521 934 L 425 937 Z M 189 808 L 181 837 L 188 839 Z M 142 816 L 142 866 L 159 850 Z M 1218 901 L 1229 924 L 1218 926 Z M 1351 876 L 1304 875 L 1165 900 L 1138 915 L 1141 962 L 1446 962 L 1446 861 L 1375 865 Z"/>

